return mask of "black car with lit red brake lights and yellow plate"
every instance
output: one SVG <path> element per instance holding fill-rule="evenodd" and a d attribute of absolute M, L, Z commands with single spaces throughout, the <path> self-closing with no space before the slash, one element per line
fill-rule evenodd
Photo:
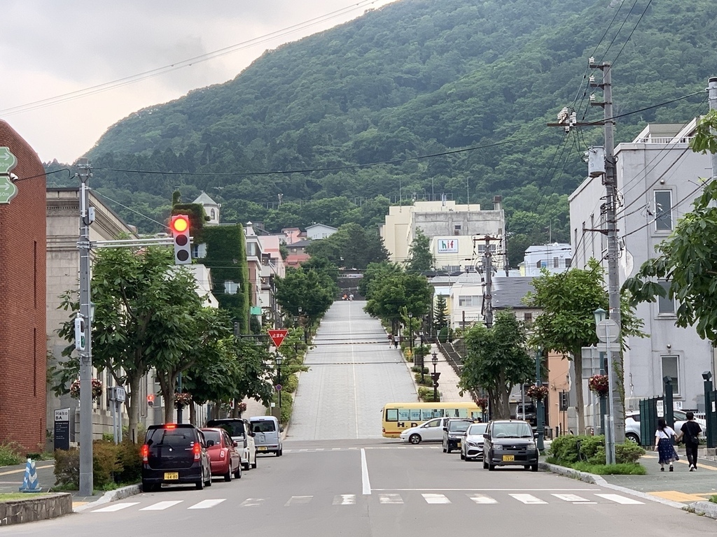
<path fill-rule="evenodd" d="M 142 490 L 162 483 L 194 483 L 200 490 L 212 485 L 212 465 L 204 434 L 189 423 L 150 425 L 142 445 Z"/>

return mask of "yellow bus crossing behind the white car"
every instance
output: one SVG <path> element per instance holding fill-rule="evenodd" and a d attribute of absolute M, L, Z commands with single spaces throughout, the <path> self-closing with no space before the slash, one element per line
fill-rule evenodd
<path fill-rule="evenodd" d="M 483 420 L 483 411 L 474 402 L 405 402 L 386 403 L 383 415 L 383 435 L 398 438 L 401 431 L 416 427 L 434 417 L 473 417 Z"/>

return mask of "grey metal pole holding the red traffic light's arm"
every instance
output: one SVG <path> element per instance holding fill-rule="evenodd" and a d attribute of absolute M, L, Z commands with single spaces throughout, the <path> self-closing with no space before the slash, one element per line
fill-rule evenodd
<path fill-rule="evenodd" d="M 90 208 L 92 168 L 86 158 L 78 163 L 80 173 L 80 317 L 84 321 L 84 345 L 80 350 L 80 495 L 91 496 L 92 480 L 92 308 L 90 302 L 90 224 L 95 220 Z M 77 345 L 77 343 L 76 343 Z"/>

